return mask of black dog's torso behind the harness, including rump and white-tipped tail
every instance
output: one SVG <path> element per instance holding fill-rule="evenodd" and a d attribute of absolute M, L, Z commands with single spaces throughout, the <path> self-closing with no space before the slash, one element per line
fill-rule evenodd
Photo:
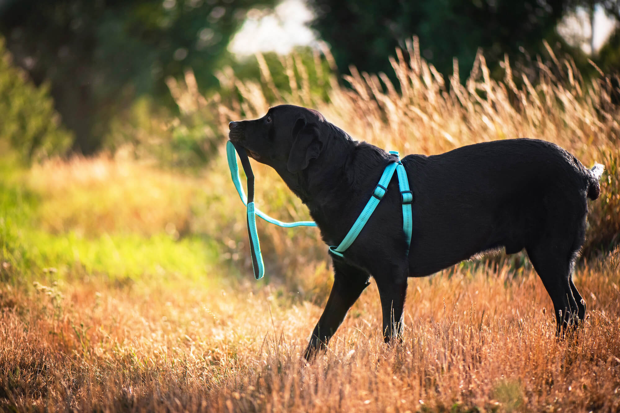
<path fill-rule="evenodd" d="M 586 196 L 598 197 L 602 172 L 586 169 L 556 144 L 529 139 L 412 155 L 403 164 L 415 195 L 409 255 L 415 276 L 489 249 L 518 252 L 544 233 L 569 238 L 567 249 L 578 250 Z"/>

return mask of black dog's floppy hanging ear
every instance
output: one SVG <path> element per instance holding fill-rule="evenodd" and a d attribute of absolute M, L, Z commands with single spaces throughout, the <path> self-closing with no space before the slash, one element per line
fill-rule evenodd
<path fill-rule="evenodd" d="M 293 127 L 293 147 L 288 154 L 286 168 L 293 174 L 303 171 L 312 159 L 319 157 L 323 144 L 320 140 L 319 128 L 314 123 L 306 123 L 298 119 Z"/>

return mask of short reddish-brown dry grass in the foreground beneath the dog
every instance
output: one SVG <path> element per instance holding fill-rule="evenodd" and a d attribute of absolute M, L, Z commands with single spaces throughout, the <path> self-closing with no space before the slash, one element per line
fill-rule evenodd
<path fill-rule="evenodd" d="M 563 341 L 529 269 L 412 280 L 404 340 L 393 348 L 383 344 L 371 286 L 312 365 L 300 354 L 321 308 L 271 286 L 63 282 L 33 294 L 3 286 L 2 406 L 618 411 L 618 259 L 583 265 L 575 278 L 589 318 Z"/>

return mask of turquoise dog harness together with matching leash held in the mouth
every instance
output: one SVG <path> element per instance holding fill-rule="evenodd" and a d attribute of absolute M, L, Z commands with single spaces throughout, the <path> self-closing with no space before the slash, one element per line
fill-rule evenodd
<path fill-rule="evenodd" d="M 241 159 L 241 164 L 243 166 L 244 172 L 246 172 L 247 177 L 247 193 L 248 196 L 243 192 L 241 187 L 241 179 L 239 178 L 239 167 L 237 166 L 237 158 L 235 155 L 235 149 L 239 154 L 239 159 Z M 392 155 L 399 156 L 398 152 L 390 151 Z M 250 167 L 249 159 L 247 158 L 247 153 L 245 149 L 236 147 L 231 141 L 226 143 L 226 156 L 228 157 L 228 167 L 231 171 L 232 183 L 237 189 L 237 193 L 239 193 L 239 197 L 241 198 L 241 202 L 244 203 L 247 207 L 247 231 L 250 239 L 250 252 L 252 253 L 252 269 L 254 270 L 254 278 L 259 280 L 265 275 L 265 266 L 263 265 L 263 257 L 260 253 L 260 241 L 259 234 L 256 231 L 256 215 L 260 216 L 263 220 L 268 223 L 275 224 L 277 226 L 281 226 L 284 228 L 292 228 L 294 226 L 316 226 L 314 221 L 296 221 L 296 222 L 282 222 L 280 220 L 276 220 L 271 216 L 267 215 L 263 211 L 255 208 L 254 206 L 254 174 L 252 173 L 252 167 Z M 398 175 L 398 185 L 401 190 L 401 203 L 402 203 L 402 230 L 407 237 L 407 254 L 409 254 L 409 247 L 411 246 L 411 233 L 413 227 L 413 218 L 411 211 L 411 204 L 414 202 L 414 194 L 409 190 L 409 180 L 407 179 L 407 172 L 405 172 L 405 167 L 402 166 L 401 161 L 393 161 L 391 162 L 386 169 L 383 171 L 383 175 L 381 175 L 381 179 L 379 179 L 379 183 L 373 190 L 372 196 L 366 207 L 361 211 L 360 216 L 358 216 L 357 220 L 348 231 L 347 236 L 340 242 L 339 246 L 330 246 L 329 252 L 332 254 L 338 255 L 339 257 L 344 257 L 343 252 L 347 251 L 348 247 L 353 244 L 353 241 L 360 234 L 361 229 L 364 228 L 366 222 L 372 215 L 374 208 L 377 207 L 379 201 L 383 199 L 383 196 L 387 192 L 387 185 L 389 184 L 392 176 L 394 175 L 394 171 L 396 171 Z"/>

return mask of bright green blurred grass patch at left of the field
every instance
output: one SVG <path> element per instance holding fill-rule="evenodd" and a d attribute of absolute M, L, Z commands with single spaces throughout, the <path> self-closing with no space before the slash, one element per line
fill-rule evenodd
<path fill-rule="evenodd" d="M 162 232 L 104 233 L 40 229 L 40 194 L 24 184 L 19 167 L 0 169 L 0 275 L 10 282 L 48 278 L 102 277 L 110 280 L 216 276 L 219 244 L 205 236 L 175 239 Z M 23 172 L 23 171 L 22 171 Z"/>

